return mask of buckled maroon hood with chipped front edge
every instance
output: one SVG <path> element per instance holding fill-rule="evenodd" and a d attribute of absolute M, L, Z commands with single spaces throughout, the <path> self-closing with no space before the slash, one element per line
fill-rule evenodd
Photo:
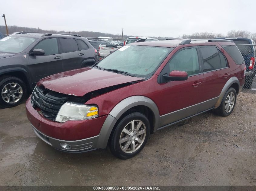
<path fill-rule="evenodd" d="M 84 96 L 91 91 L 142 79 L 144 78 L 126 76 L 95 68 L 80 68 L 43 78 L 37 83 L 37 86 L 43 85 L 49 90 L 63 94 Z"/>

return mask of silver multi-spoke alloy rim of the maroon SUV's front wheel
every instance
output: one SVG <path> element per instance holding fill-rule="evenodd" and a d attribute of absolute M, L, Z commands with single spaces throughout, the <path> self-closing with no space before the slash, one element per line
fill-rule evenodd
<path fill-rule="evenodd" d="M 119 144 L 125 153 L 133 153 L 141 147 L 145 137 L 145 124 L 141 120 L 133 120 L 122 130 Z"/>

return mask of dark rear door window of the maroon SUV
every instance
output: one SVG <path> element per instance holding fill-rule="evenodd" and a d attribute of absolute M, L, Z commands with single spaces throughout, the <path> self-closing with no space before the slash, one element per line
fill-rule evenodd
<path fill-rule="evenodd" d="M 203 72 L 227 67 L 227 61 L 217 47 L 199 47 L 203 57 Z"/>

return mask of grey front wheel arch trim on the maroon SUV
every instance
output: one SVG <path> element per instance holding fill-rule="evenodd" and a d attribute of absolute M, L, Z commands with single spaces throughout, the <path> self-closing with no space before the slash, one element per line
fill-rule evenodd
<path fill-rule="evenodd" d="M 155 102 L 145 96 L 131 96 L 119 102 L 111 110 L 111 112 L 109 113 L 107 119 L 105 120 L 101 128 L 96 148 L 106 148 L 108 144 L 108 138 L 117 120 L 127 110 L 139 105 L 147 106 L 153 111 L 155 116 L 155 126 L 154 126 L 154 132 L 155 132 L 160 126 L 160 115 L 159 115 L 158 107 L 156 106 Z"/>

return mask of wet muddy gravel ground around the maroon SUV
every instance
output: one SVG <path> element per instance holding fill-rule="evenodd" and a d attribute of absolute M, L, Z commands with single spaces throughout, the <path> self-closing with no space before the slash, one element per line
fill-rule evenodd
<path fill-rule="evenodd" d="M 70 154 L 39 139 L 25 103 L 0 110 L 0 185 L 256 185 L 256 95 L 228 117 L 212 111 L 151 135 L 128 160 L 107 150 Z"/>

